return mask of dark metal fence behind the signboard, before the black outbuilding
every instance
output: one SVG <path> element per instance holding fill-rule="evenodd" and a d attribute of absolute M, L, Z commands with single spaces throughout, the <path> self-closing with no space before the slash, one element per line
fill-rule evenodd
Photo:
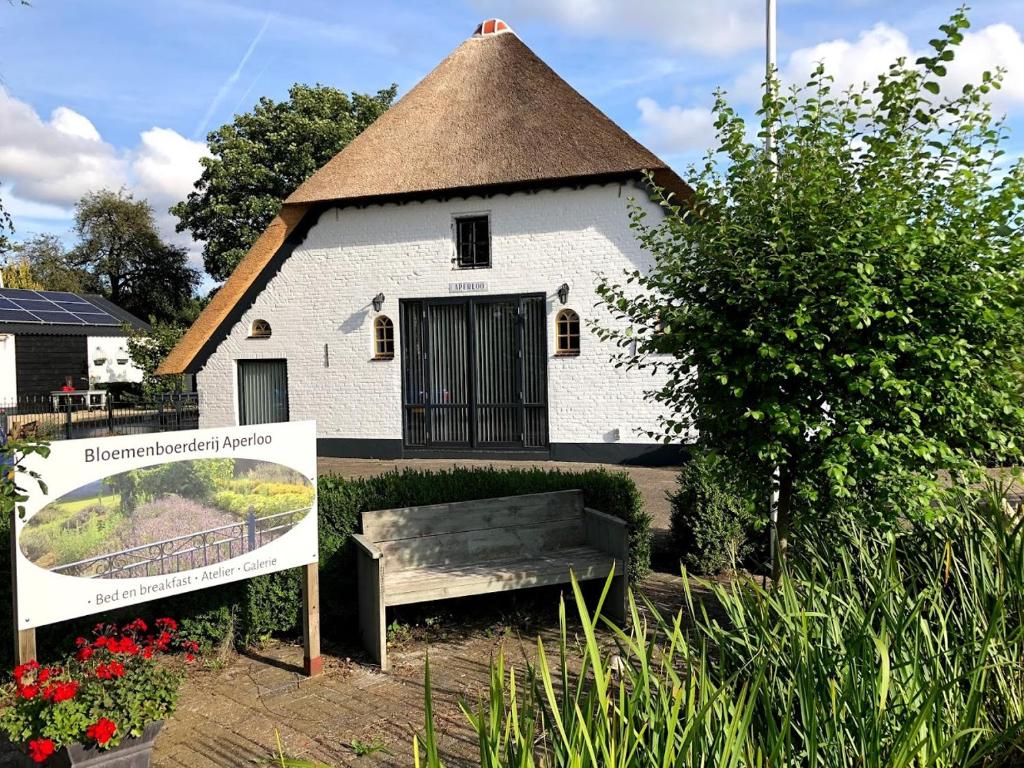
<path fill-rule="evenodd" d="M 145 401 L 118 401 L 108 396 L 0 400 L 0 431 L 11 438 L 72 440 L 197 427 L 199 399 L 196 392 L 165 394 Z"/>

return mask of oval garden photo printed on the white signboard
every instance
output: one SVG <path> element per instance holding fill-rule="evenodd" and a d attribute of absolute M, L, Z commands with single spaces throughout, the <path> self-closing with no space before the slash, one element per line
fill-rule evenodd
<path fill-rule="evenodd" d="M 47 504 L 22 531 L 23 554 L 53 573 L 131 579 L 214 565 L 302 520 L 313 486 L 253 459 L 188 459 L 131 469 Z"/>

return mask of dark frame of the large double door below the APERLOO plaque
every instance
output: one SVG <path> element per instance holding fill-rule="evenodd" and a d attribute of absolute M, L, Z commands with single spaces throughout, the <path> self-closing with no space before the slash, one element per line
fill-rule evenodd
<path fill-rule="evenodd" d="M 503 301 L 518 301 L 521 302 L 525 299 L 539 299 L 544 307 L 543 310 L 543 347 L 544 347 L 544 444 L 540 446 L 526 446 L 523 441 L 520 442 L 509 442 L 509 443 L 495 443 L 488 442 L 485 444 L 480 444 L 477 439 L 477 401 L 476 401 L 476 382 L 477 382 L 477 366 L 476 366 L 476 314 L 475 307 L 477 304 L 497 304 Z M 408 419 L 407 419 L 407 409 L 411 408 L 414 403 L 409 401 L 409 392 L 407 388 L 408 377 L 406 375 L 406 314 L 410 311 L 410 305 L 421 304 L 424 307 L 428 305 L 452 305 L 452 304 L 465 304 L 467 307 L 467 350 L 468 350 L 468 402 L 467 402 L 467 413 L 469 415 L 469 444 L 461 442 L 432 442 L 428 441 L 426 444 L 416 445 L 410 444 L 409 439 L 409 429 L 408 429 Z M 421 322 L 422 318 L 421 318 Z M 459 296 L 437 296 L 437 297 L 410 297 L 398 299 L 398 328 L 399 328 L 399 339 L 400 343 L 398 345 L 399 356 L 400 356 L 400 372 L 401 372 L 401 401 L 398 403 L 401 409 L 401 446 L 403 454 L 411 453 L 424 453 L 437 455 L 438 453 L 444 454 L 445 452 L 462 452 L 462 453 L 532 453 L 538 455 L 543 455 L 551 450 L 551 420 L 550 420 L 550 401 L 548 397 L 548 360 L 551 357 L 548 339 L 548 296 L 543 291 L 531 291 L 525 293 L 502 293 L 502 294 L 469 294 L 469 295 L 459 295 Z M 427 329 L 427 326 L 423 326 Z M 516 377 L 520 382 L 520 391 L 524 391 L 522 388 L 522 382 L 524 378 L 525 362 L 524 358 L 521 356 L 523 350 L 523 328 L 521 323 L 517 323 L 517 344 L 520 352 L 520 356 L 517 358 L 516 362 Z M 423 334 L 423 352 L 426 355 L 426 361 L 424 364 L 424 378 L 428 379 L 430 376 L 430 334 L 424 331 Z M 428 388 L 429 391 L 429 388 Z M 523 433 L 526 429 L 526 402 L 521 397 L 522 401 L 517 403 L 520 406 L 520 427 Z M 435 403 L 428 402 L 425 403 L 427 408 L 427 429 L 429 434 L 429 414 L 430 408 Z"/>

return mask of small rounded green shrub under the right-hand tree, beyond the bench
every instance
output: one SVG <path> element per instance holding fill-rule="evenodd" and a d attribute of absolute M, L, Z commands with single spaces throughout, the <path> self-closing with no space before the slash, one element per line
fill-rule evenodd
<path fill-rule="evenodd" d="M 679 487 L 669 497 L 674 553 L 697 573 L 716 574 L 755 564 L 759 546 L 757 495 L 748 478 L 721 458 L 695 453 L 679 473 Z M 762 494 L 767 494 L 765 489 Z"/>

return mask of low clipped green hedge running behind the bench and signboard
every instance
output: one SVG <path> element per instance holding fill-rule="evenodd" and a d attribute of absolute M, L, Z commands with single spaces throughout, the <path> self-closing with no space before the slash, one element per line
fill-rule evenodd
<path fill-rule="evenodd" d="M 355 613 L 355 566 L 351 534 L 359 528 L 362 512 L 445 502 L 472 501 L 580 488 L 588 507 L 621 517 L 629 524 L 630 579 L 642 578 L 650 565 L 650 516 L 640 492 L 625 472 L 595 469 L 560 470 L 455 468 L 440 471 L 407 469 L 374 477 L 321 477 L 319 513 L 321 611 L 325 637 L 349 635 Z M 9 551 L 0 548 L 0 593 L 9 581 Z M 178 617 L 182 630 L 198 640 L 215 643 L 230 636 L 249 644 L 272 634 L 295 633 L 300 627 L 299 572 L 283 571 L 246 582 L 214 587 L 155 603 L 128 608 L 125 615 Z M 8 598 L 9 599 L 9 598 Z M 7 603 L 9 604 L 9 602 Z M 54 648 L 82 634 L 95 616 L 43 628 L 41 648 Z M 4 623 L 3 650 L 11 647 Z M 3 657 L 8 657 L 3 652 Z"/>

